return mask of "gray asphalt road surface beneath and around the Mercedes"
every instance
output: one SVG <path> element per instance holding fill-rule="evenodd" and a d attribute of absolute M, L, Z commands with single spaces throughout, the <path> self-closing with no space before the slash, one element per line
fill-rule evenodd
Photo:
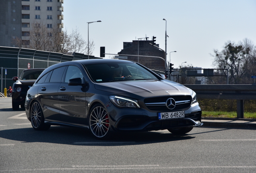
<path fill-rule="evenodd" d="M 256 131 L 197 127 L 94 139 L 87 129 L 33 130 L 0 98 L 0 173 L 255 173 Z"/>

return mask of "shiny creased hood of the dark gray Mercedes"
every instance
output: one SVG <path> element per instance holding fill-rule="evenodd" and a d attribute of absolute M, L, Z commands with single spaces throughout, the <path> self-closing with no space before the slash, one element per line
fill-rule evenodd
<path fill-rule="evenodd" d="M 121 81 L 121 82 L 107 82 L 95 83 L 95 88 L 102 91 L 107 91 L 116 94 L 147 93 L 152 95 L 159 95 L 160 93 L 168 93 L 168 95 L 190 95 L 188 88 L 182 84 L 172 82 L 169 80 L 135 80 L 135 81 Z"/>

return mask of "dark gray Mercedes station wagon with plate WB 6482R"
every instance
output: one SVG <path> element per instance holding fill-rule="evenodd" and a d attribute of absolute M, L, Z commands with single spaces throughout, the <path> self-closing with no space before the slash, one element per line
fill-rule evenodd
<path fill-rule="evenodd" d="M 167 129 L 182 135 L 203 124 L 194 91 L 127 60 L 52 65 L 28 90 L 25 110 L 35 130 L 83 127 L 98 139 L 115 131 Z"/>

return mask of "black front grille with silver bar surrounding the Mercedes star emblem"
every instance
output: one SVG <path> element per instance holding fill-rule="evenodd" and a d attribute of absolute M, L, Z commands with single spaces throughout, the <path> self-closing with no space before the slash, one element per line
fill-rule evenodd
<path fill-rule="evenodd" d="M 172 98 L 176 102 L 174 109 L 169 109 L 166 106 L 167 99 Z M 167 96 L 167 97 L 153 97 L 144 100 L 145 105 L 151 111 L 177 111 L 184 110 L 190 107 L 192 97 L 190 95 Z"/>

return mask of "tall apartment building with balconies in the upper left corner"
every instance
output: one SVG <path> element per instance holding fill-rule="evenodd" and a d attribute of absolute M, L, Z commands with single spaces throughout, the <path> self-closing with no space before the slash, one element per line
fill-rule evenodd
<path fill-rule="evenodd" d="M 21 38 L 24 45 L 30 44 L 30 30 L 35 23 L 49 30 L 58 25 L 61 32 L 63 1 L 0 0 L 0 46 L 17 47 L 12 41 L 16 37 Z"/>

